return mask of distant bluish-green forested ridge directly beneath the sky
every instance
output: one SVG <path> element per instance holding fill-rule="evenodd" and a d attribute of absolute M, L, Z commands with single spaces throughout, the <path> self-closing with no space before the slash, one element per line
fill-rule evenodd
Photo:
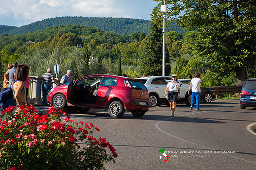
<path fill-rule="evenodd" d="M 129 35 L 134 32 L 150 33 L 151 23 L 149 20 L 131 19 L 131 18 L 99 18 L 99 17 L 56 17 L 44 19 L 32 24 L 20 27 L 0 25 L 0 35 L 22 35 L 28 32 L 44 30 L 47 27 L 59 25 L 79 24 L 84 26 L 96 27 L 103 31 L 110 31 L 118 34 Z M 173 22 L 167 28 L 169 31 L 175 31 L 180 34 L 186 31 L 181 29 L 178 24 Z"/>

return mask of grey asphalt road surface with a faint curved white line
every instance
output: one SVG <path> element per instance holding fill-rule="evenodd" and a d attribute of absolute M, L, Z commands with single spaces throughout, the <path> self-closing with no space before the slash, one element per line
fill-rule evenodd
<path fill-rule="evenodd" d="M 118 153 L 107 170 L 255 170 L 256 135 L 247 126 L 256 122 L 256 109 L 240 109 L 239 99 L 200 103 L 201 111 L 177 104 L 175 117 L 161 105 L 141 118 L 125 112 L 121 119 L 107 111 L 70 113 L 74 121 L 93 122 Z M 165 149 L 167 158 L 159 152 Z"/>

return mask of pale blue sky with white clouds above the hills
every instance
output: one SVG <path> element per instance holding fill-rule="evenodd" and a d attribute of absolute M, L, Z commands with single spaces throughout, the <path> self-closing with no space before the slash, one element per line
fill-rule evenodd
<path fill-rule="evenodd" d="M 0 0 L 0 24 L 22 26 L 62 16 L 150 20 L 154 0 Z"/>

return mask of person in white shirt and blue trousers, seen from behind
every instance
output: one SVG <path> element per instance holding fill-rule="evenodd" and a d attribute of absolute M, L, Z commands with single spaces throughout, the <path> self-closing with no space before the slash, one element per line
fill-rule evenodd
<path fill-rule="evenodd" d="M 200 83 L 203 85 L 204 82 L 201 79 L 200 73 L 195 74 L 195 78 L 192 78 L 190 87 L 189 87 L 189 95 L 190 95 L 190 89 L 192 88 L 192 95 L 191 95 L 191 105 L 190 109 L 193 110 L 194 106 L 194 100 L 196 102 L 196 110 L 200 110 L 199 100 L 200 100 L 200 93 L 201 93 L 201 87 Z"/>

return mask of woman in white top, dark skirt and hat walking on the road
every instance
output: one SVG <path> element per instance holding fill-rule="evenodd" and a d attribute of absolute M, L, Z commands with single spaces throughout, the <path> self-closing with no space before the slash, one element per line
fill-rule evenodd
<path fill-rule="evenodd" d="M 176 102 L 180 99 L 180 83 L 176 74 L 172 74 L 172 80 L 168 82 L 164 96 L 168 95 L 170 102 L 171 116 L 174 117 Z M 167 94 L 168 93 L 168 94 Z"/>

